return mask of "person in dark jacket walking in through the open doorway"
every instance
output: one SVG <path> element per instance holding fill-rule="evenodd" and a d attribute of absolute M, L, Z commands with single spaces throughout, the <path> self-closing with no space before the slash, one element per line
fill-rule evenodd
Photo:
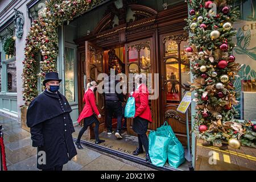
<path fill-rule="evenodd" d="M 115 75 L 110 75 L 108 81 L 104 83 L 104 93 L 106 101 L 106 119 L 108 124 L 108 135 L 113 133 L 112 130 L 112 115 L 114 114 L 117 117 L 117 130 L 115 131 L 115 137 L 122 139 L 121 130 L 122 130 L 122 102 L 123 94 L 117 93 L 115 86 L 118 84 L 118 81 L 115 80 Z"/>

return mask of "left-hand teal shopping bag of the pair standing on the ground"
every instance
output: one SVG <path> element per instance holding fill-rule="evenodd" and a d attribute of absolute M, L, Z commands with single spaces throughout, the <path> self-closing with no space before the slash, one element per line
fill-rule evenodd
<path fill-rule="evenodd" d="M 148 143 L 148 153 L 152 164 L 163 167 L 167 160 L 167 147 L 170 138 L 158 135 L 156 131 L 152 130 L 148 135 Z"/>

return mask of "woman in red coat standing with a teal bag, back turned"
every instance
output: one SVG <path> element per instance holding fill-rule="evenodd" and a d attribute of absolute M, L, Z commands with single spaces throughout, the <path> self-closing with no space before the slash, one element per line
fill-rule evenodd
<path fill-rule="evenodd" d="M 138 134 L 139 147 L 133 152 L 133 155 L 139 155 L 143 153 L 143 147 L 146 150 L 146 162 L 151 162 L 148 155 L 148 138 L 147 127 L 148 122 L 152 122 L 152 115 L 150 107 L 148 105 L 148 90 L 147 86 L 143 83 L 146 82 L 146 75 L 135 76 L 135 82 L 137 88 L 133 93 L 135 98 L 135 115 L 133 119 L 133 130 Z"/>

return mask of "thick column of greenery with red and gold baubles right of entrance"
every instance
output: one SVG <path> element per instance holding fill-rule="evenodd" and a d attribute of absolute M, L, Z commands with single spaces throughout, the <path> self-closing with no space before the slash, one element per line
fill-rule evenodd
<path fill-rule="evenodd" d="M 193 82 L 189 84 L 196 102 L 193 132 L 204 144 L 256 147 L 256 125 L 234 119 L 238 101 L 233 82 L 241 65 L 232 54 L 236 46 L 232 37 L 237 33 L 233 23 L 240 11 L 231 6 L 232 1 L 186 2 L 185 30 L 190 34 L 185 52 L 191 61 Z"/>

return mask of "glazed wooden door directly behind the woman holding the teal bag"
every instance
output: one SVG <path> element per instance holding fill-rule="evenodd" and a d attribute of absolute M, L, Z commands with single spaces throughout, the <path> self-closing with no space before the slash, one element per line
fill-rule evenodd
<path fill-rule="evenodd" d="M 155 46 L 154 39 L 143 39 L 138 40 L 136 42 L 131 42 L 125 45 L 126 49 L 126 61 L 125 61 L 125 73 L 127 76 L 127 91 L 128 93 L 133 90 L 129 90 L 133 88 L 134 78 L 129 78 L 129 73 L 144 73 L 147 76 L 147 88 L 148 92 L 153 95 L 155 91 L 155 81 L 154 73 L 156 73 L 156 63 L 155 63 Z M 148 73 L 152 73 L 152 77 L 150 78 Z M 128 94 L 127 94 L 128 96 Z M 128 98 L 128 97 L 127 97 Z M 149 100 L 149 105 L 152 114 L 152 123 L 148 123 L 148 132 L 150 130 L 156 129 L 156 114 L 157 114 L 157 100 Z M 134 133 L 133 129 L 133 119 L 127 118 L 127 133 L 130 135 L 137 135 Z"/>

